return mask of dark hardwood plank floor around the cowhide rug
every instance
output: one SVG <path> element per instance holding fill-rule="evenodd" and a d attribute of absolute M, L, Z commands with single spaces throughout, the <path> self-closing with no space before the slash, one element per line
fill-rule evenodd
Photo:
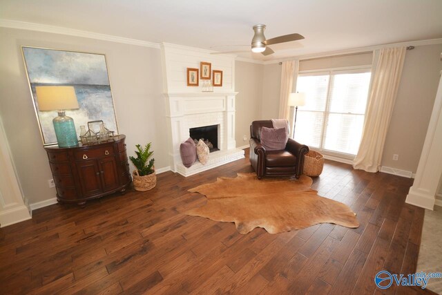
<path fill-rule="evenodd" d="M 241 235 L 233 223 L 182 213 L 205 202 L 191 187 L 251 171 L 246 158 L 189 178 L 166 172 L 151 191 L 84 209 L 39 209 L 0 229 L 0 293 L 430 294 L 374 285 L 381 269 L 416 270 L 424 210 L 405 204 L 412 180 L 326 161 L 314 189 L 352 207 L 357 229 L 321 224 Z"/>

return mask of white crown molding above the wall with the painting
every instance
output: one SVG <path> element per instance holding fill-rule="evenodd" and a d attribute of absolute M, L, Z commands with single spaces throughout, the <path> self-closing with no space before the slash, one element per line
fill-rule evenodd
<path fill-rule="evenodd" d="M 111 41 L 122 44 L 130 44 L 130 45 L 160 49 L 160 44 L 157 44 L 155 42 L 142 41 L 137 39 L 113 36 L 113 35 L 105 35 L 105 34 L 99 34 L 97 32 L 88 32 L 85 30 L 76 30 L 76 29 L 64 28 L 59 26 L 49 26 L 40 23 L 28 23 L 26 21 L 12 21 L 10 19 L 0 19 L 0 27 L 15 28 L 20 30 L 34 30 L 38 32 L 51 32 L 60 35 L 84 37 L 90 39 L 97 39 L 97 40 Z"/>

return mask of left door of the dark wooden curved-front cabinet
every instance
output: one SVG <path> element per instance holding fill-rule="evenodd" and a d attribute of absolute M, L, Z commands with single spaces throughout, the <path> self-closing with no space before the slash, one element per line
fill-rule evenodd
<path fill-rule="evenodd" d="M 101 172 L 97 160 L 77 162 L 78 173 L 81 179 L 81 191 L 84 196 L 93 196 L 102 191 Z"/>

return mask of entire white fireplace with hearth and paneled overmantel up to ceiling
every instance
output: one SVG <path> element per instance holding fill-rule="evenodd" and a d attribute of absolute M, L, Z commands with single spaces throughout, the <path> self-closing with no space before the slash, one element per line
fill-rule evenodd
<path fill-rule="evenodd" d="M 161 50 L 171 169 L 189 176 L 244 158 L 244 151 L 236 149 L 235 141 L 235 58 L 166 43 Z M 201 61 L 210 62 L 212 70 L 222 70 L 222 86 L 213 87 L 213 92 L 186 84 L 186 68 L 200 68 Z M 210 153 L 205 165 L 197 161 L 190 168 L 184 167 L 180 144 L 190 137 L 189 129 L 211 125 L 218 125 L 220 151 Z"/>

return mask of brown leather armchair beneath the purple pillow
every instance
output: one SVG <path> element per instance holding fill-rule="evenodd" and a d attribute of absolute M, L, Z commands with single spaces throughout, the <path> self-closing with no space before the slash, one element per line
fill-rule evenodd
<path fill-rule="evenodd" d="M 260 142 L 261 128 L 273 128 L 271 120 L 253 121 L 250 126 L 250 163 L 258 175 L 295 176 L 299 178 L 304 166 L 304 155 L 309 147 L 289 138 L 282 151 L 266 151 Z"/>

